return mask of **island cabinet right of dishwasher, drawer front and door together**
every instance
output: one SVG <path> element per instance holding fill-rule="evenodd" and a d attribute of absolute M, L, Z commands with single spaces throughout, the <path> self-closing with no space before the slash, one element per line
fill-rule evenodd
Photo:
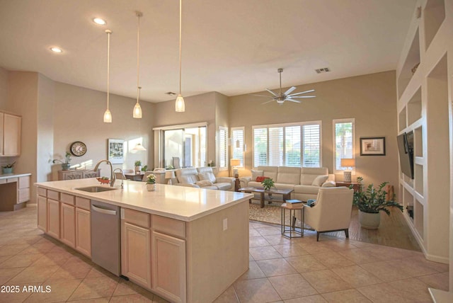
<path fill-rule="evenodd" d="M 123 209 L 121 220 L 121 272 L 151 289 L 151 232 L 149 214 Z"/>

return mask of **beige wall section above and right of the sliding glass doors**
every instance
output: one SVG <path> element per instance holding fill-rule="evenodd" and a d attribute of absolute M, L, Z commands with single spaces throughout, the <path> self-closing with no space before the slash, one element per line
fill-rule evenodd
<path fill-rule="evenodd" d="M 155 104 L 155 127 L 207 122 L 207 161 L 216 161 L 215 156 L 215 107 L 218 93 L 203 93 L 185 97 L 185 113 L 176 113 L 175 100 Z"/>

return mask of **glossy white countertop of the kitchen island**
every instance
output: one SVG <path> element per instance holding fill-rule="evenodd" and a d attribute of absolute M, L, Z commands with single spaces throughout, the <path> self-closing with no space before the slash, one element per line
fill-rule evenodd
<path fill-rule="evenodd" d="M 38 187 L 186 222 L 205 217 L 253 197 L 248 193 L 166 184 L 156 184 L 156 191 L 147 191 L 146 183 L 129 180 L 124 181 L 124 188 L 121 189 L 120 184 L 121 181 L 117 180 L 115 190 L 87 193 L 74 188 L 100 185 L 96 178 L 35 183 Z"/>

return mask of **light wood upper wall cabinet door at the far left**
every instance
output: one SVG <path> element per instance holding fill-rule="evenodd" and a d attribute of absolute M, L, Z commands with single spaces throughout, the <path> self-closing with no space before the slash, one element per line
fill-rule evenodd
<path fill-rule="evenodd" d="M 4 156 L 21 154 L 21 117 L 4 114 Z"/>

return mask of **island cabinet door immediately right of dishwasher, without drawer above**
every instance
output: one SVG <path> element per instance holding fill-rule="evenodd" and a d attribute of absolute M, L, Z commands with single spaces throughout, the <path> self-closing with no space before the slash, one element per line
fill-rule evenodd
<path fill-rule="evenodd" d="M 124 222 L 122 239 L 122 275 L 151 289 L 151 237 L 149 229 Z"/>

